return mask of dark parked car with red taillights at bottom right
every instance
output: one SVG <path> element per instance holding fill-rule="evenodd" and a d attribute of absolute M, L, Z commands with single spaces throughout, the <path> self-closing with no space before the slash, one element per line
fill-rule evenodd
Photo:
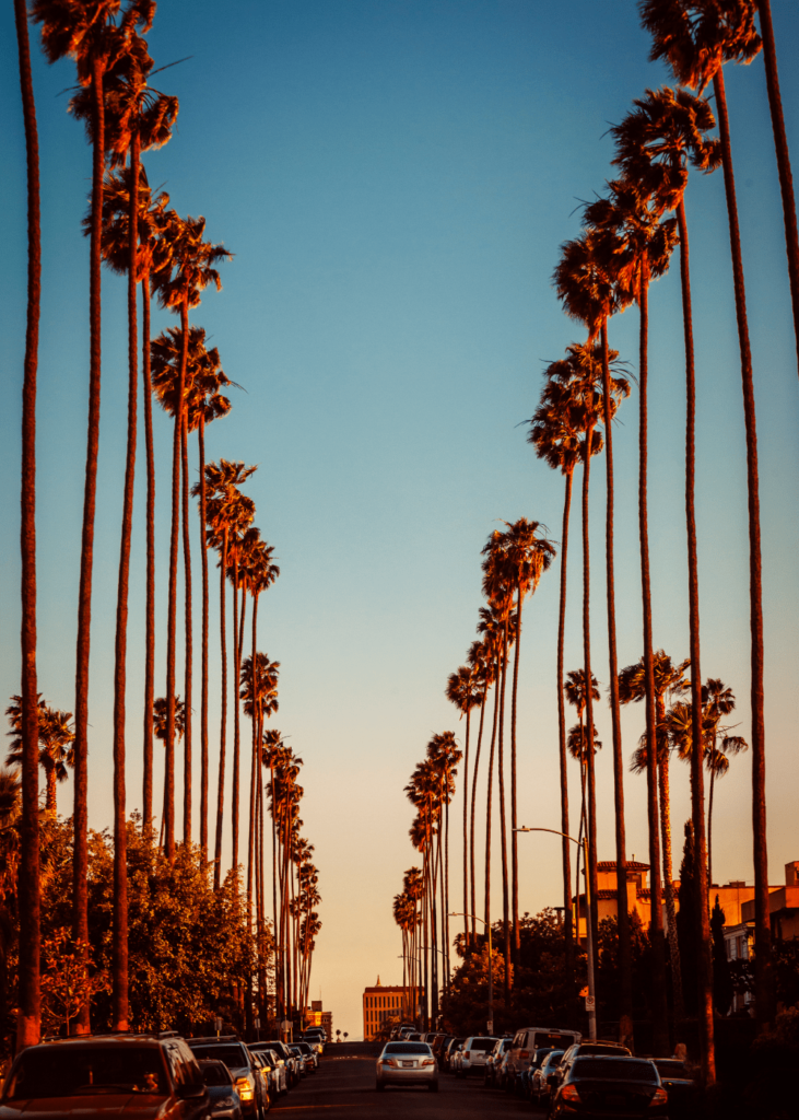
<path fill-rule="evenodd" d="M 668 1094 L 654 1062 L 639 1057 L 575 1057 L 555 1094 L 549 1112 L 561 1117 L 666 1120 Z"/>

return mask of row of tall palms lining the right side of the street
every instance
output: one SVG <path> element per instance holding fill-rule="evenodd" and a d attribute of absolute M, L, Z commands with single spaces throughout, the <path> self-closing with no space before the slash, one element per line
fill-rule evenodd
<path fill-rule="evenodd" d="M 558 704 L 558 739 L 561 762 L 561 822 L 562 831 L 570 833 L 567 753 L 570 740 L 581 759 L 584 774 L 584 828 L 589 839 L 588 875 L 594 889 L 592 922 L 596 915 L 596 801 L 594 754 L 596 746 L 594 701 L 599 699 L 592 672 L 592 635 L 590 599 L 589 511 L 591 459 L 605 452 L 605 591 L 608 605 L 609 702 L 612 727 L 612 762 L 614 777 L 614 820 L 618 886 L 618 935 L 621 962 L 621 1006 L 623 1016 L 632 1015 L 632 983 L 630 928 L 627 914 L 627 856 L 624 829 L 624 760 L 621 740 L 620 707 L 630 700 L 640 700 L 645 708 L 646 731 L 633 759 L 634 768 L 647 776 L 647 806 L 649 820 L 649 864 L 651 870 L 651 946 L 652 946 L 652 1008 L 655 1046 L 666 1052 L 668 1046 L 668 1016 L 666 988 L 666 955 L 664 943 L 662 909 L 667 914 L 669 949 L 675 976 L 679 978 L 679 958 L 675 939 L 674 897 L 671 888 L 670 829 L 668 825 L 668 759 L 671 749 L 678 749 L 690 762 L 692 822 L 699 866 L 706 874 L 696 877 L 698 897 L 694 931 L 699 959 L 699 1021 L 702 1070 L 706 1085 L 715 1080 L 715 1051 L 713 1037 L 713 998 L 709 933 L 709 818 L 705 808 L 705 768 L 709 769 L 711 790 L 717 775 L 728 764 L 728 756 L 746 745 L 739 736 L 726 734 L 721 719 L 734 707 L 732 692 L 717 679 L 703 684 L 701 666 L 699 585 L 697 534 L 695 516 L 695 398 L 696 370 L 694 361 L 690 274 L 688 255 L 688 226 L 685 195 L 690 171 L 711 174 L 723 169 L 730 242 L 733 263 L 734 299 L 745 422 L 745 455 L 748 467 L 748 519 L 750 541 L 750 623 L 751 623 L 751 718 L 752 718 L 752 805 L 753 805 L 753 860 L 755 872 L 755 1007 L 761 1024 L 768 1024 L 774 1014 L 773 965 L 771 931 L 768 906 L 768 852 L 765 843 L 765 739 L 763 720 L 763 626 L 760 505 L 758 475 L 758 441 L 754 409 L 754 389 L 751 348 L 746 319 L 745 284 L 741 254 L 734 171 L 730 142 L 730 121 L 724 86 L 724 65 L 727 62 L 750 63 L 761 47 L 765 57 L 769 101 L 772 113 L 778 153 L 778 169 L 782 189 L 786 224 L 789 279 L 795 310 L 795 329 L 799 354 L 799 250 L 797 248 L 796 209 L 790 177 L 790 161 L 782 120 L 779 80 L 774 49 L 771 12 L 768 0 L 640 0 L 639 12 L 645 29 L 651 35 L 652 60 L 662 59 L 678 83 L 676 88 L 665 86 L 648 90 L 633 102 L 624 120 L 611 129 L 615 142 L 613 165 L 619 176 L 608 183 L 607 193 L 583 208 L 582 234 L 566 242 L 554 272 L 554 284 L 566 314 L 582 324 L 588 333 L 584 342 L 570 345 L 564 358 L 552 363 L 545 371 L 540 403 L 529 424 L 529 440 L 537 455 L 551 467 L 561 470 L 565 482 L 563 530 L 561 534 L 561 603 L 556 654 L 556 696 Z M 755 17 L 760 17 L 761 36 Z M 714 108 L 705 91 L 713 85 Z M 718 136 L 712 131 L 718 127 Z M 649 286 L 662 277 L 675 250 L 679 249 L 680 286 L 683 293 L 683 324 L 686 363 L 686 539 L 688 551 L 688 628 L 689 659 L 674 665 L 662 652 L 656 652 L 652 634 L 652 588 L 648 541 L 648 333 Z M 638 361 L 639 389 L 639 543 L 641 571 L 641 623 L 643 655 L 637 665 L 619 670 L 615 633 L 614 585 L 614 479 L 613 479 L 613 419 L 622 401 L 630 395 L 629 379 L 619 355 L 609 346 L 609 325 L 612 317 L 631 305 L 639 310 L 640 340 Z M 576 734 L 567 732 L 565 700 L 570 698 L 564 679 L 564 635 L 566 617 L 566 561 L 573 476 L 582 468 L 582 544 L 583 590 L 582 631 L 583 665 L 570 674 L 573 687 L 572 702 L 577 700 L 581 724 Z M 535 524 L 535 523 L 528 523 Z M 509 526 L 510 528 L 510 526 Z M 501 534 L 499 534 L 501 535 Z M 547 542 L 552 559 L 554 549 Z M 511 595 L 513 578 L 500 575 L 491 559 L 494 540 L 487 545 L 483 563 L 485 590 L 489 606 L 483 608 L 481 632 L 485 637 L 470 650 L 468 664 L 452 674 L 448 696 L 467 717 L 467 747 L 464 750 L 464 906 L 466 913 L 476 914 L 473 866 L 473 809 L 472 824 L 468 829 L 469 796 L 466 783 L 469 759 L 470 711 L 480 707 L 480 730 L 474 772 L 482 740 L 485 699 L 495 685 L 495 711 L 489 757 L 486 843 L 486 918 L 490 886 L 491 841 L 491 781 L 494 748 L 499 755 L 500 844 L 502 853 L 504 930 L 506 963 L 518 946 L 518 903 L 515 838 L 511 831 L 513 856 L 508 867 L 505 840 L 505 786 L 502 767 L 502 728 L 505 716 L 505 674 L 509 647 L 516 642 L 517 656 L 514 670 L 511 699 L 511 830 L 516 828 L 515 790 L 515 710 L 518 666 L 518 636 L 520 632 L 521 591 L 515 615 L 507 603 Z M 500 552 L 501 554 L 501 552 Z M 542 569 L 543 570 L 543 569 Z M 536 580 L 537 581 L 537 580 Z M 534 581 L 535 582 L 535 581 Z M 518 585 L 517 585 L 518 586 Z M 534 585 L 533 585 L 534 589 Z M 684 676 L 690 666 L 690 678 Z M 591 681 L 586 688 L 585 682 Z M 564 691 L 564 687 L 565 691 Z M 664 698 L 669 693 L 686 696 L 666 711 Z M 574 731 L 574 729 L 573 729 Z M 697 749 L 693 745 L 697 744 Z M 589 748 L 589 745 L 591 747 Z M 467 832 L 470 836 L 467 836 Z M 573 937 L 568 921 L 572 908 L 572 875 L 568 841 L 563 840 L 563 887 L 566 914 L 567 943 Z M 473 922 L 473 918 L 472 918 Z M 474 937 L 473 925 L 464 937 Z M 509 970 L 505 970 L 506 978 Z M 506 984 L 508 983 L 506 979 Z M 677 982 L 679 988 L 679 982 Z M 679 999 L 679 997 L 677 997 Z M 677 1006 L 676 1010 L 679 1010 Z"/>

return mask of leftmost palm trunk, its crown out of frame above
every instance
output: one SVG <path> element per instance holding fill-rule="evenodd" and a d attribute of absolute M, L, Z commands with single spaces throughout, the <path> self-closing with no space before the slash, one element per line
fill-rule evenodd
<path fill-rule="evenodd" d="M 36 125 L 34 80 L 30 71 L 28 10 L 25 0 L 13 0 L 19 52 L 28 171 L 28 307 L 22 379 L 22 463 L 20 486 L 20 596 L 22 814 L 19 862 L 19 983 L 17 1049 L 35 1046 L 40 1037 L 39 989 L 39 711 L 36 673 L 36 388 L 41 302 L 41 235 L 39 200 L 39 134 Z"/>

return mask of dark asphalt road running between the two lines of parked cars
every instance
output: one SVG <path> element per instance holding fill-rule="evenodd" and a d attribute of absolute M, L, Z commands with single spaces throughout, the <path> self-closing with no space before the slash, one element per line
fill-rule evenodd
<path fill-rule="evenodd" d="M 388 1088 L 375 1091 L 375 1058 L 379 1047 L 369 1043 L 340 1043 L 327 1047 L 317 1073 L 306 1077 L 288 1096 L 273 1105 L 273 1112 L 303 1120 L 314 1113 L 330 1120 L 349 1118 L 372 1120 L 373 1117 L 412 1117 L 413 1120 L 436 1120 L 459 1117 L 459 1120 L 491 1120 L 496 1117 L 530 1118 L 536 1110 L 529 1102 L 516 1100 L 496 1090 L 482 1088 L 482 1079 L 455 1081 L 441 1074 L 439 1092 L 426 1089 Z"/>

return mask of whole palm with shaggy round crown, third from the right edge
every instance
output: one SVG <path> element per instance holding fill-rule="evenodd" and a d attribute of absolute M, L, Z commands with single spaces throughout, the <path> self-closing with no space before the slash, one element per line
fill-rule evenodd
<path fill-rule="evenodd" d="M 624 175 L 641 184 L 655 199 L 662 212 L 674 211 L 679 231 L 679 264 L 680 286 L 683 293 L 683 327 L 685 335 L 685 376 L 686 376 L 686 430 L 685 430 L 685 512 L 688 544 L 688 627 L 690 633 L 692 673 L 692 710 L 697 713 L 697 727 L 694 734 L 698 736 L 701 702 L 701 636 L 699 636 L 699 582 L 696 541 L 695 512 L 695 444 L 696 444 L 696 379 L 694 367 L 694 327 L 690 299 L 690 270 L 688 256 L 688 222 L 685 211 L 685 189 L 688 181 L 688 168 L 693 167 L 705 174 L 715 170 L 721 162 L 721 143 L 708 137 L 715 127 L 715 118 L 709 103 L 704 97 L 694 96 L 687 90 L 676 92 L 668 87 L 652 92 L 647 91 L 646 97 L 633 102 L 634 110 L 621 124 L 611 130 L 617 143 L 614 162 L 622 168 Z M 697 754 L 692 762 L 692 820 L 694 836 L 704 847 L 704 778 L 702 760 Z M 707 908 L 705 903 L 696 907 L 697 914 Z M 670 921 L 669 928 L 674 926 Z M 709 925 L 707 936 L 709 936 Z M 696 931 L 697 940 L 702 942 L 703 925 Z M 674 955 L 676 940 L 671 945 Z M 707 954 L 705 946 L 703 953 Z M 712 976 L 709 970 L 702 976 L 702 983 L 707 990 L 703 995 L 701 1006 L 712 1016 Z M 676 984 L 675 991 L 682 995 L 682 986 Z M 703 1032 L 705 1043 L 703 1051 L 708 1049 L 708 1032 L 712 1033 L 712 1021 L 706 1021 Z"/>

